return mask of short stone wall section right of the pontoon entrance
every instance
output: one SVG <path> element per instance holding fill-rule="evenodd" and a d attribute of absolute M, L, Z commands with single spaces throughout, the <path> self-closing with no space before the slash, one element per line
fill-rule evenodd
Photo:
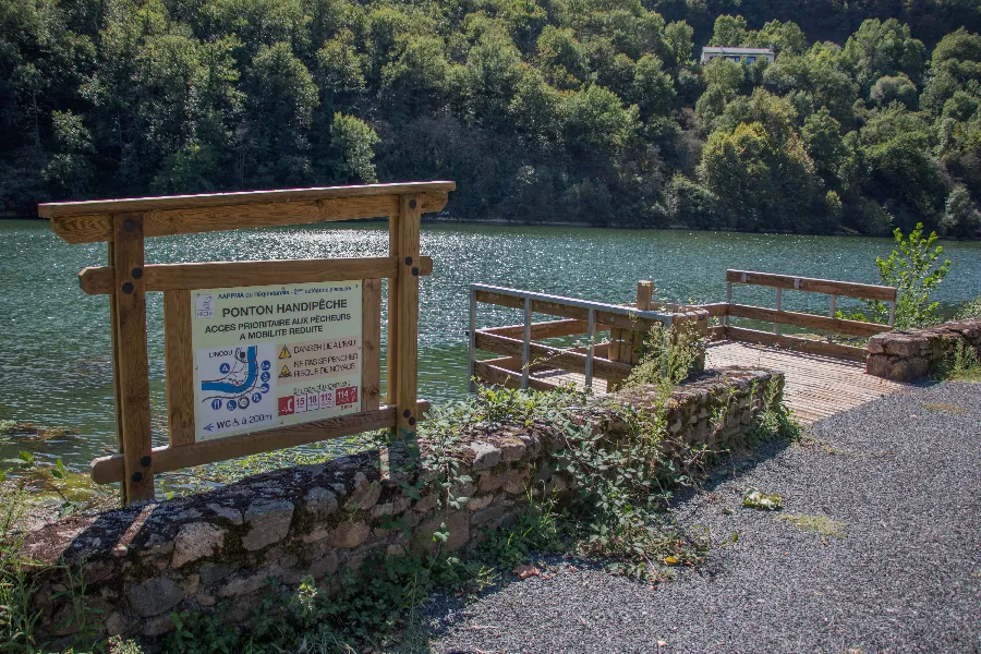
<path fill-rule="evenodd" d="M 869 339 L 865 372 L 895 382 L 916 382 L 950 361 L 958 343 L 981 354 L 981 318 L 873 336 Z"/>

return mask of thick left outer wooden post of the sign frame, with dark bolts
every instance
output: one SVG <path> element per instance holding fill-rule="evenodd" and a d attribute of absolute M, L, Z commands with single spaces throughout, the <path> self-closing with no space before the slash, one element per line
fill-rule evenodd
<path fill-rule="evenodd" d="M 116 355 L 126 502 L 154 499 L 146 352 L 146 295 L 143 281 L 143 214 L 117 214 L 112 221 L 116 269 Z"/>

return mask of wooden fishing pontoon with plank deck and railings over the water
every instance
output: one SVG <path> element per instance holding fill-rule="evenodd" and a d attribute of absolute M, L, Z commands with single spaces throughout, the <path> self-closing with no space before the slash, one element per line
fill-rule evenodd
<path fill-rule="evenodd" d="M 554 389 L 569 384 L 600 392 L 617 388 L 643 353 L 652 327 L 688 324 L 711 342 L 705 366 L 753 366 L 786 376 L 785 400 L 807 424 L 873 399 L 897 392 L 904 384 L 865 374 L 867 351 L 843 337 L 867 338 L 889 331 L 897 291 L 893 287 L 827 279 L 772 275 L 748 270 L 726 272 L 726 301 L 703 305 L 657 304 L 653 283 L 638 284 L 637 303 L 628 306 L 546 295 L 485 284 L 471 286 L 470 376 L 484 384 L 510 388 Z M 774 308 L 732 302 L 734 284 L 774 288 Z M 784 311 L 785 290 L 829 296 L 827 316 Z M 882 302 L 889 306 L 889 324 L 836 317 L 838 296 Z M 481 304 L 523 311 L 520 325 L 476 328 Z M 533 314 L 558 320 L 533 322 Z M 771 323 L 763 331 L 731 324 L 732 318 Z M 710 325 L 710 323 L 717 323 Z M 810 330 L 782 334 L 782 326 Z M 535 342 L 546 341 L 546 342 Z M 498 356 L 479 359 L 477 351 Z M 596 378 L 606 386 L 597 388 Z"/>

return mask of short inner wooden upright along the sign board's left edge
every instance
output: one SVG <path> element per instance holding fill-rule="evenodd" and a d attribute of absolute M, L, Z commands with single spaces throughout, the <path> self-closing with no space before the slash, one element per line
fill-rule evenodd
<path fill-rule="evenodd" d="M 164 361 L 170 447 L 191 445 L 195 438 L 191 291 L 164 293 Z"/>

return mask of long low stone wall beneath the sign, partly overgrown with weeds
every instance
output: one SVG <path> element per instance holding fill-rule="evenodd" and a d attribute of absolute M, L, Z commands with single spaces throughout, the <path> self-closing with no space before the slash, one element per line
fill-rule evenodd
<path fill-rule="evenodd" d="M 765 402 L 780 401 L 782 392 L 767 390 L 771 384 L 782 391 L 783 377 L 746 368 L 706 373 L 674 396 L 670 434 L 681 443 L 728 447 Z M 652 398 L 651 389 L 620 393 L 638 408 Z M 622 428 L 613 411 L 572 414 L 591 417 L 595 429 Z M 329 584 L 375 552 L 433 550 L 441 523 L 450 532 L 444 547 L 460 550 L 512 519 L 526 488 L 568 486 L 549 464 L 562 446 L 553 426 L 475 425 L 461 443 L 461 473 L 473 482 L 456 489 L 470 498 L 460 510 L 440 508 L 436 492 L 410 499 L 402 486 L 382 477 L 378 452 L 370 451 L 185 498 L 59 520 L 25 542 L 43 564 L 63 564 L 35 574 L 34 604 L 43 609 L 38 630 L 57 645 L 80 628 L 65 592 L 80 577 L 66 569 L 85 583 L 86 605 L 97 611 L 97 638 L 159 637 L 172 629 L 170 614 L 181 610 L 218 611 L 229 623 L 244 623 L 269 589 L 288 592 L 306 576 Z M 428 445 L 420 447 L 425 452 Z M 414 474 L 435 479 L 431 471 Z M 396 520 L 408 529 L 395 529 Z"/>

